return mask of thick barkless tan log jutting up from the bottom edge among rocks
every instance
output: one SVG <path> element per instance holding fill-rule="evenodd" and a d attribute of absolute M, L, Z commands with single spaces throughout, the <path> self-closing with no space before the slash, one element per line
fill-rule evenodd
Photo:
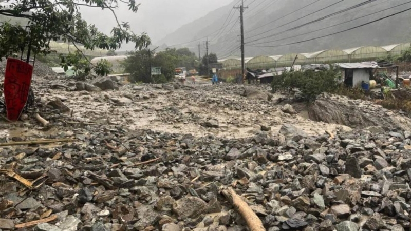
<path fill-rule="evenodd" d="M 235 210 L 246 220 L 247 226 L 250 231 L 266 231 L 263 226 L 263 222 L 255 215 L 254 211 L 243 201 L 240 196 L 232 188 L 222 190 L 223 195 L 234 206 Z"/>

